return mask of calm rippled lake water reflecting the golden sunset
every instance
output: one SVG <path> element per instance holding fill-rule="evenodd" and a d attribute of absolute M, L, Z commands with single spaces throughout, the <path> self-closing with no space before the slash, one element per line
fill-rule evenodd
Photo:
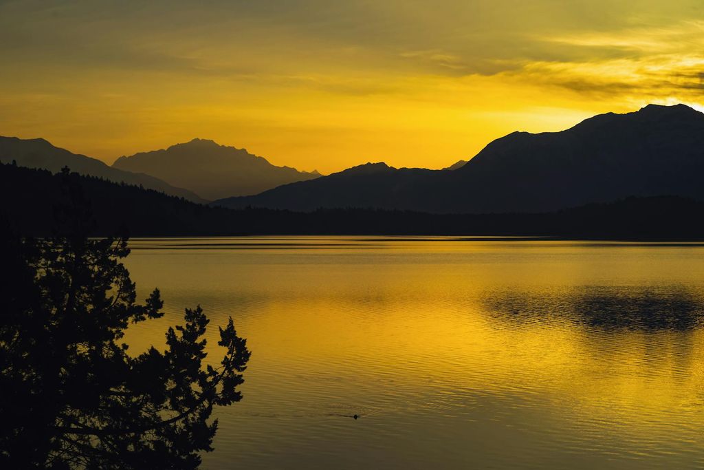
<path fill-rule="evenodd" d="M 704 247 L 457 237 L 132 240 L 141 297 L 252 351 L 205 469 L 704 466 Z M 351 419 L 359 414 L 358 420 Z"/>

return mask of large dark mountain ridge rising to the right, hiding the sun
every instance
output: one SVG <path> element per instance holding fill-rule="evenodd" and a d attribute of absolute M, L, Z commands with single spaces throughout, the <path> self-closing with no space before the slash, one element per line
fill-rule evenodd
<path fill-rule="evenodd" d="M 562 132 L 513 132 L 455 171 L 373 168 L 213 204 L 481 214 L 555 211 L 629 196 L 704 199 L 704 114 L 682 104 L 651 104 L 594 116 Z"/>

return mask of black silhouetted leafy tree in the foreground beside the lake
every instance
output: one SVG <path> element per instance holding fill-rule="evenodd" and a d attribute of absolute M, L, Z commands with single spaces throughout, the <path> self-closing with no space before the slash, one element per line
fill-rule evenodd
<path fill-rule="evenodd" d="M 127 239 L 89 239 L 89 206 L 66 189 L 55 237 L 0 227 L 0 467 L 196 468 L 212 450 L 213 407 L 241 399 L 246 342 L 230 319 L 225 357 L 204 366 L 197 307 L 168 329 L 164 352 L 128 354 L 125 328 L 162 316 L 163 302 L 158 290 L 136 302 L 120 263 Z"/>

